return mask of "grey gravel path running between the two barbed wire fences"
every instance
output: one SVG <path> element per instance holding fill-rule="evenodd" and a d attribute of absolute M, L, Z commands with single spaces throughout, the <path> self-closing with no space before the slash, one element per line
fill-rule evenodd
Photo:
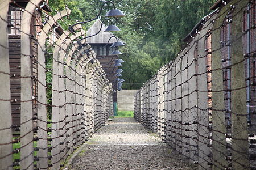
<path fill-rule="evenodd" d="M 195 169 L 188 166 L 181 155 L 133 118 L 114 118 L 88 141 L 72 169 Z"/>

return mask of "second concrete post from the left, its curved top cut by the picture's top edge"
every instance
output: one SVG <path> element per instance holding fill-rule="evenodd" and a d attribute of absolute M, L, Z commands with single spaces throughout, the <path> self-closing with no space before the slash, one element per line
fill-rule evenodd
<path fill-rule="evenodd" d="M 33 155 L 33 111 L 32 111 L 32 66 L 31 66 L 31 42 L 30 25 L 35 8 L 41 0 L 31 0 L 23 12 L 20 33 L 21 53 L 21 111 L 20 111 L 20 169 L 34 169 Z"/>

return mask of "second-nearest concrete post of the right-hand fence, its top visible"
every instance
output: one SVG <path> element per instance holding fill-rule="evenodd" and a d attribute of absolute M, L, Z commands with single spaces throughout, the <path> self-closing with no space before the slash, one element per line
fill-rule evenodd
<path fill-rule="evenodd" d="M 221 10 L 222 12 L 222 10 Z M 212 170 L 225 169 L 228 162 L 226 155 L 226 126 L 225 126 L 225 105 L 224 105 L 224 85 L 220 81 L 222 76 L 221 51 L 220 48 L 220 29 L 225 15 L 219 13 L 220 17 L 214 22 L 212 32 Z M 216 70 L 219 69 L 219 70 Z"/>

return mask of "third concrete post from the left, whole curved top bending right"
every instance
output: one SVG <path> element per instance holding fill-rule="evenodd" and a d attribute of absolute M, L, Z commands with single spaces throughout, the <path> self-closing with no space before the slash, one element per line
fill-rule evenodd
<path fill-rule="evenodd" d="M 40 33 L 38 39 L 38 126 L 40 127 L 38 130 L 38 147 L 40 148 L 38 151 L 38 167 L 39 168 L 47 168 L 48 167 L 48 158 L 46 155 L 48 154 L 47 150 L 47 110 L 46 110 L 46 70 L 45 70 L 45 56 L 44 52 L 46 50 L 46 38 L 48 36 L 49 30 L 52 28 L 53 24 L 56 24 L 57 20 L 63 18 L 64 16 L 69 15 L 71 10 L 65 9 L 56 15 L 54 15 L 51 19 L 48 20 L 46 25 L 44 25 L 42 32 Z M 44 149 L 42 149 L 44 148 Z"/>

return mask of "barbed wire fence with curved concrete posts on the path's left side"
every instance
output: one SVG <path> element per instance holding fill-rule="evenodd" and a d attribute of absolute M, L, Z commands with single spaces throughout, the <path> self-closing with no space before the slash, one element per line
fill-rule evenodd
<path fill-rule="evenodd" d="M 80 41 L 85 31 L 75 25 L 74 32 L 63 31 L 53 41 L 58 20 L 65 24 L 71 10 L 51 15 L 41 5 L 39 0 L 26 7 L 0 1 L 0 169 L 60 169 L 110 116 L 112 84 L 90 45 Z M 10 20 L 9 8 L 20 12 L 20 23 Z M 20 33 L 15 46 L 10 46 L 10 29 Z M 18 112 L 20 124 L 14 124 Z"/>

